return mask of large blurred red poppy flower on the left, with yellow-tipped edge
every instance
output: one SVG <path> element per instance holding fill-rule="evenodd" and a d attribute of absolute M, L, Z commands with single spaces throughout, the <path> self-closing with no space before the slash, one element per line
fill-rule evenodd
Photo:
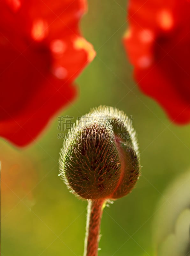
<path fill-rule="evenodd" d="M 0 136 L 32 142 L 75 98 L 73 80 L 95 52 L 80 35 L 85 0 L 0 1 Z"/>

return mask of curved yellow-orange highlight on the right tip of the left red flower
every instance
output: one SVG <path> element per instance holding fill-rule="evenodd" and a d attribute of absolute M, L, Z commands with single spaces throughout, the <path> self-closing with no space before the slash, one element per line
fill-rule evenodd
<path fill-rule="evenodd" d="M 74 41 L 74 47 L 77 50 L 85 50 L 88 54 L 88 61 L 92 61 L 96 56 L 93 46 L 87 42 L 83 37 L 78 37 Z"/>

